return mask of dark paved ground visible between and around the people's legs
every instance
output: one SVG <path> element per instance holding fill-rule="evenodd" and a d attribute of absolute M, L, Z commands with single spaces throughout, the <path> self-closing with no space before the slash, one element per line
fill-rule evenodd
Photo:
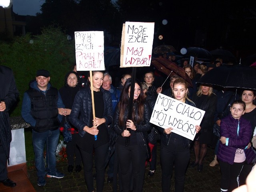
<path fill-rule="evenodd" d="M 194 153 L 191 152 L 191 160 L 194 160 Z M 184 192 L 216 192 L 220 191 L 220 170 L 218 166 L 210 167 L 209 163 L 214 157 L 214 150 L 208 148 L 206 158 L 204 160 L 204 170 L 198 172 L 196 168 L 188 168 L 186 172 Z M 87 192 L 84 181 L 83 170 L 80 173 L 67 172 L 67 163 L 61 162 L 57 164 L 57 169 L 66 176 L 61 179 L 46 178 L 46 186 L 37 185 L 36 170 L 28 170 L 28 178 L 37 192 Z M 143 192 L 161 192 L 161 166 L 159 158 L 157 170 L 153 177 L 148 177 L 149 166 L 146 167 Z M 174 175 L 174 174 L 173 174 Z M 106 174 L 107 179 L 107 174 Z M 106 181 L 105 179 L 105 181 Z M 94 182 L 96 188 L 96 182 Z M 112 184 L 104 183 L 104 192 L 112 192 Z M 171 191 L 174 191 L 174 176 L 172 177 Z"/>

